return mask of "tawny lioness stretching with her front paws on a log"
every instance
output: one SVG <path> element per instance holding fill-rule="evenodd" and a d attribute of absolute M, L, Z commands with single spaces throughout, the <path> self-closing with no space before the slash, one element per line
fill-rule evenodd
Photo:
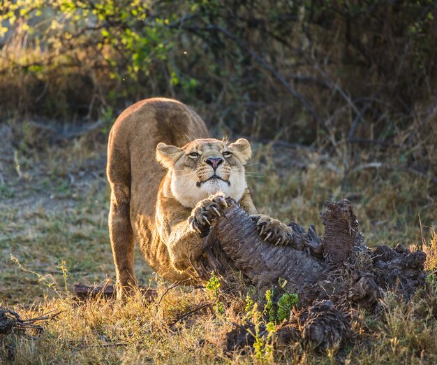
<path fill-rule="evenodd" d="M 119 296 L 137 285 L 135 241 L 156 273 L 189 283 L 203 239 L 228 196 L 253 216 L 267 240 L 288 242 L 290 228 L 257 214 L 244 175 L 250 157 L 246 139 L 211 138 L 205 122 L 179 101 L 146 99 L 119 115 L 110 131 L 107 166 Z"/>

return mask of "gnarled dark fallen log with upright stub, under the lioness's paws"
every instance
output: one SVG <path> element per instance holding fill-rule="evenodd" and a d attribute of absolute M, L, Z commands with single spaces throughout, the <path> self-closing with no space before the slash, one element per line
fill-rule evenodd
<path fill-rule="evenodd" d="M 200 273 L 238 269 L 260 290 L 281 282 L 302 304 L 347 299 L 371 307 L 385 289 L 409 297 L 424 285 L 424 252 L 410 252 L 402 245 L 367 248 L 347 200 L 328 202 L 320 213 L 322 238 L 312 226 L 305 231 L 292 222 L 292 239 L 281 246 L 263 241 L 251 217 L 232 199 L 227 203 L 224 214 L 212 222 Z"/>

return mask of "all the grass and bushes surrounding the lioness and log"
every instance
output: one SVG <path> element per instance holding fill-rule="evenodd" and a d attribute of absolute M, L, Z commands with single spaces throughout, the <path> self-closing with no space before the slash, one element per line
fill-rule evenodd
<path fill-rule="evenodd" d="M 0 306 L 59 315 L 41 334 L 0 334 L 0 363 L 435 364 L 436 16 L 427 0 L 3 1 Z M 108 131 L 152 95 L 190 103 L 218 138 L 251 137 L 261 213 L 321 232 L 324 202 L 348 198 L 367 244 L 427 253 L 427 287 L 353 311 L 352 338 L 326 353 L 277 341 L 292 296 L 279 308 L 215 276 L 168 290 L 138 250 L 156 299 L 75 301 L 73 283 L 114 278 Z M 226 353 L 247 317 L 255 344 Z"/>

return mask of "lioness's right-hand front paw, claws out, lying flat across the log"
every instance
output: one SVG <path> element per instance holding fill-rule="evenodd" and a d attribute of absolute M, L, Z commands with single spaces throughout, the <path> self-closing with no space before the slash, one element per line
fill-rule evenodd
<path fill-rule="evenodd" d="M 251 215 L 251 218 L 255 220 L 264 241 L 275 245 L 289 245 L 292 242 L 292 229 L 286 224 L 263 214 Z"/>

